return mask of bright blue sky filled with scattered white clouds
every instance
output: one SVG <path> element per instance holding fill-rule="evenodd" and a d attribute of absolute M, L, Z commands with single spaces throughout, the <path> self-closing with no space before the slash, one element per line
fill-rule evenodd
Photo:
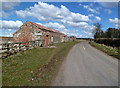
<path fill-rule="evenodd" d="M 78 38 L 93 38 L 95 23 L 118 28 L 115 2 L 3 2 L 0 9 L 0 36 L 12 37 L 26 21 Z"/>

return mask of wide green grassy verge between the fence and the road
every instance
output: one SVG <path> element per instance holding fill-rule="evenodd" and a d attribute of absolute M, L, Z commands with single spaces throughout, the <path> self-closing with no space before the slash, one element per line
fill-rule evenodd
<path fill-rule="evenodd" d="M 60 43 L 56 45 L 57 48 L 34 48 L 3 59 L 3 86 L 49 86 L 76 43 Z"/>

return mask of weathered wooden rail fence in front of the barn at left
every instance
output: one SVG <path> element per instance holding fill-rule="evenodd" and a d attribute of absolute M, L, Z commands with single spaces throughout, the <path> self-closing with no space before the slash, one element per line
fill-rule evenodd
<path fill-rule="evenodd" d="M 0 59 L 7 58 L 21 51 L 29 50 L 35 47 L 41 47 L 43 40 L 18 42 L 18 43 L 2 43 L 0 44 Z"/>

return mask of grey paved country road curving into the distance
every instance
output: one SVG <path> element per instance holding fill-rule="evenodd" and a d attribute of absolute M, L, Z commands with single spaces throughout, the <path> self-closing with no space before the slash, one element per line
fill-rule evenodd
<path fill-rule="evenodd" d="M 118 86 L 118 60 L 88 42 L 75 45 L 62 63 L 53 86 Z"/>

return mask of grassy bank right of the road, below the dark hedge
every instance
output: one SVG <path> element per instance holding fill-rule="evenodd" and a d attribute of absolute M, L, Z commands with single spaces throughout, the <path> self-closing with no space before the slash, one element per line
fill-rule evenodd
<path fill-rule="evenodd" d="M 93 41 L 90 42 L 90 45 L 105 52 L 105 53 L 107 53 L 110 56 L 113 56 L 115 58 L 120 59 L 120 49 L 106 46 L 104 44 L 98 44 L 98 43 L 95 43 Z"/>

